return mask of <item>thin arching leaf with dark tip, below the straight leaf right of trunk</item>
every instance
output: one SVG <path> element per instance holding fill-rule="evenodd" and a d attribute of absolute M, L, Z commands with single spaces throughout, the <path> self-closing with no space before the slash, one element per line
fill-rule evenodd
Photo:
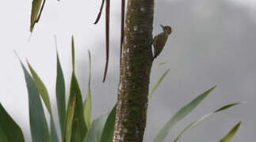
<path fill-rule="evenodd" d="M 184 135 L 184 133 L 187 133 L 189 132 L 191 129 L 193 129 L 196 125 L 198 125 L 201 121 L 203 121 L 204 119 L 208 118 L 209 116 L 211 116 L 212 114 L 216 114 L 220 111 L 223 111 L 223 110 L 227 110 L 228 108 L 230 107 L 234 107 L 235 105 L 238 105 L 238 104 L 241 104 L 241 103 L 231 103 L 231 104 L 228 104 L 228 105 L 225 105 L 224 107 L 220 107 L 220 109 L 218 110 L 215 110 L 215 111 L 212 111 L 211 113 L 209 114 L 205 114 L 204 116 L 202 116 L 201 118 L 199 118 L 198 120 L 196 121 L 193 121 L 192 123 L 190 123 L 187 127 L 185 127 L 185 129 L 183 129 L 183 131 L 177 136 L 177 138 L 174 140 L 174 142 L 177 142 L 182 135 Z"/>

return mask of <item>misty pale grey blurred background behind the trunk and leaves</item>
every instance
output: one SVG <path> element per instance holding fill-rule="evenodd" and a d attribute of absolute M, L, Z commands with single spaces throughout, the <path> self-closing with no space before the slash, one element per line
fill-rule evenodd
<path fill-rule="evenodd" d="M 0 102 L 21 125 L 28 142 L 31 141 L 28 95 L 21 65 L 13 50 L 17 50 L 23 61 L 28 59 L 44 80 L 57 114 L 54 35 L 58 40 L 67 95 L 71 79 L 71 35 L 74 35 L 76 73 L 83 95 L 89 71 L 87 50 L 92 53 L 93 118 L 108 112 L 116 102 L 120 1 L 111 3 L 110 65 L 105 84 L 101 83 L 105 65 L 104 12 L 99 24 L 93 24 L 100 5 L 101 0 L 47 1 L 29 41 L 32 0 L 0 2 Z M 240 101 L 247 103 L 208 118 L 182 140 L 216 142 L 238 121 L 242 121 L 242 125 L 232 141 L 256 140 L 256 1 L 156 0 L 154 35 L 162 30 L 159 24 L 171 25 L 174 32 L 155 61 L 166 64 L 152 68 L 151 87 L 166 69 L 170 72 L 149 102 L 144 141 L 150 142 L 180 107 L 214 85 L 217 88 L 174 127 L 165 142 L 174 140 L 185 125 L 203 114 Z"/>

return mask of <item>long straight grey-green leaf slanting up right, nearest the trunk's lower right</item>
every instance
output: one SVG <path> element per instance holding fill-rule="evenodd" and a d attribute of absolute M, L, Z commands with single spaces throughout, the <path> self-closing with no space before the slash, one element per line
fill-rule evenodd
<path fill-rule="evenodd" d="M 198 95 L 197 98 L 193 99 L 190 103 L 186 104 L 181 110 L 178 110 L 176 114 L 169 121 L 167 121 L 166 125 L 159 131 L 157 136 L 155 136 L 154 142 L 162 142 L 166 138 L 166 135 L 170 132 L 170 129 L 182 118 L 185 118 L 187 114 L 189 114 L 194 108 L 197 107 L 199 103 L 210 93 L 212 90 L 216 88 L 210 88 L 208 91 Z"/>

